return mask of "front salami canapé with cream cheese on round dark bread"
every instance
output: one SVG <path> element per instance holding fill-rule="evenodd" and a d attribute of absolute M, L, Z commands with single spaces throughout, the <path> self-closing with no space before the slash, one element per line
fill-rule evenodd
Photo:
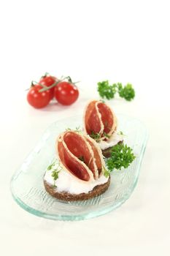
<path fill-rule="evenodd" d="M 67 130 L 56 141 L 58 159 L 47 168 L 47 192 L 61 200 L 87 200 L 104 193 L 110 184 L 101 148 L 82 132 Z"/>

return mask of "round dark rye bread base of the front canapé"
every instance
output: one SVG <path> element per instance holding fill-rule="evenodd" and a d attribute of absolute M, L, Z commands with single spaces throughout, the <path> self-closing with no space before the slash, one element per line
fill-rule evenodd
<path fill-rule="evenodd" d="M 110 176 L 106 183 L 94 187 L 93 190 L 91 190 L 88 193 L 81 193 L 78 195 L 70 194 L 68 192 L 57 192 L 56 189 L 54 189 L 53 185 L 47 184 L 47 181 L 45 180 L 44 180 L 44 184 L 45 184 L 46 191 L 57 199 L 64 200 L 64 201 L 88 200 L 90 198 L 103 194 L 108 189 L 110 184 Z"/>

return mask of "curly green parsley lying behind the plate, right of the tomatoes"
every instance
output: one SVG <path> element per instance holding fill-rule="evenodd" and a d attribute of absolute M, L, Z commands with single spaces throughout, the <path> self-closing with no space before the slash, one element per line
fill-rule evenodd
<path fill-rule="evenodd" d="M 108 80 L 98 82 L 98 93 L 101 98 L 113 99 L 115 94 L 119 94 L 120 97 L 131 101 L 135 97 L 135 91 L 131 83 L 127 83 L 123 86 L 122 83 L 109 84 Z"/>

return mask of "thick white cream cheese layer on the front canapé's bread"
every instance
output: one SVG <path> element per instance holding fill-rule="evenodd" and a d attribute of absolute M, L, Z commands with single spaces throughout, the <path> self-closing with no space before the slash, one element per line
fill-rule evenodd
<path fill-rule="evenodd" d="M 104 184 L 108 181 L 108 178 L 106 178 L 104 175 L 94 181 L 82 181 L 64 169 L 61 169 L 61 171 L 58 173 L 58 178 L 56 181 L 54 181 L 52 173 L 53 170 L 55 170 L 56 165 L 53 165 L 51 170 L 46 170 L 44 179 L 52 186 L 55 184 L 55 190 L 58 192 L 69 192 L 70 194 L 76 195 L 88 193 L 97 185 Z"/>

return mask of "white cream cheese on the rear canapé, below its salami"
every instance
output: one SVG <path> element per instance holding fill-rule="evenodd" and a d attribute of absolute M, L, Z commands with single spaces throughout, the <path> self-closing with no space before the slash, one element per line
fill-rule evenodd
<path fill-rule="evenodd" d="M 118 133 L 114 133 L 109 140 L 105 141 L 105 140 L 101 140 L 98 145 L 100 146 L 100 148 L 102 150 L 110 148 L 112 146 L 117 145 L 117 143 L 119 143 L 120 141 L 123 140 L 123 135 L 120 135 Z"/>

